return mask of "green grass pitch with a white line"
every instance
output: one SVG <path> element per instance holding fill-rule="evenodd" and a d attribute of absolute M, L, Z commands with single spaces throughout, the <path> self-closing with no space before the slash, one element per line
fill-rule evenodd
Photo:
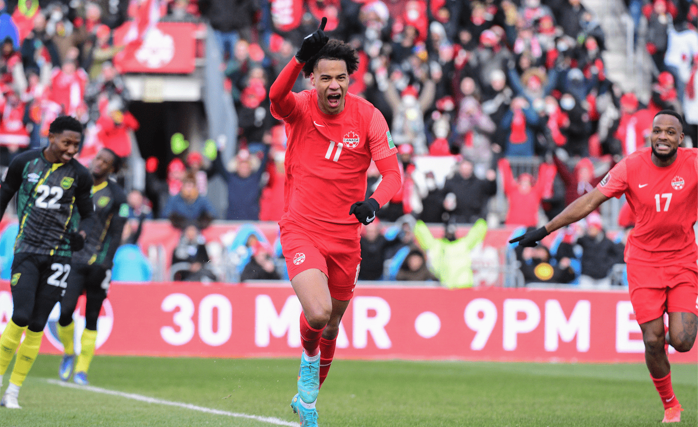
<path fill-rule="evenodd" d="M 261 427 L 298 421 L 288 405 L 298 359 L 96 356 L 89 374 L 95 389 L 61 386 L 59 360 L 39 355 L 20 391 L 23 409 L 0 407 L 0 426 Z M 698 367 L 675 364 L 671 372 L 685 408 L 679 425 L 697 426 Z M 659 426 L 663 408 L 644 364 L 338 359 L 320 391 L 318 414 L 322 427 L 641 427 Z"/>

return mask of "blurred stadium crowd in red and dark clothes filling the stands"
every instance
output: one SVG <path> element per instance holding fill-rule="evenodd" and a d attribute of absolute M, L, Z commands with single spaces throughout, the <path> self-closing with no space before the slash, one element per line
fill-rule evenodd
<path fill-rule="evenodd" d="M 216 219 L 251 227 L 228 247 L 234 279 L 284 278 L 278 242 L 254 229 L 283 214 L 285 136 L 269 112 L 268 93 L 302 38 L 327 17 L 327 34 L 359 51 L 349 91 L 385 116 L 403 176 L 401 191 L 378 212 L 396 225 L 365 228 L 359 279 L 472 286 L 472 277 L 453 282 L 424 267 L 426 259 L 434 262 L 427 254 L 435 244 L 459 242 L 449 233 L 454 226 L 479 219 L 539 226 L 591 191 L 609 166 L 646 146 L 661 109 L 684 114 L 686 143 L 696 146 L 698 3 L 627 5 L 636 28 L 646 28 L 636 40 L 646 40 L 656 68 L 647 102 L 609 79 L 606 37 L 579 0 L 0 0 L 0 164 L 46 146 L 55 117 L 75 116 L 86 127 L 80 162 L 107 147 L 126 159 L 123 173 L 144 164 L 144 187 L 127 188 L 131 217 L 170 219 L 184 230 L 172 254 L 173 263 L 186 263 L 178 279 L 216 279 L 202 269 L 209 257 L 199 233 Z M 235 102 L 238 120 L 236 153 L 227 164 L 225 147 L 209 140 L 195 150 L 181 134 L 172 135 L 170 153 L 140 158 L 138 147 L 149 141 L 135 139 L 140 124 L 119 71 L 121 56 L 132 54 L 138 40 L 116 43 L 114 29 L 150 7 L 160 20 L 204 22 L 216 35 L 224 95 Z M 294 90 L 304 88 L 301 77 Z M 224 212 L 207 196 L 214 176 L 227 186 Z M 369 169 L 366 197 L 379 180 L 378 170 Z M 505 203 L 497 203 L 498 192 Z M 443 241 L 427 236 L 424 223 L 443 224 Z M 124 233 L 131 235 L 135 224 Z M 615 241 L 606 237 L 609 227 L 623 229 Z M 554 247 L 515 256 L 527 283 L 607 286 L 631 228 L 628 215 L 618 224 L 590 219 L 560 233 Z M 463 247 L 477 240 L 464 239 Z M 598 263 L 600 250 L 615 261 Z M 394 267 L 385 268 L 386 261 Z M 459 261 L 439 260 L 453 262 Z M 540 263 L 554 273 L 548 277 Z"/>

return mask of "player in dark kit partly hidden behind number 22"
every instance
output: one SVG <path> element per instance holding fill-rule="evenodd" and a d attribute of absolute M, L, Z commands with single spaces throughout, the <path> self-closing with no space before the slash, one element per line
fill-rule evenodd
<path fill-rule="evenodd" d="M 61 380 L 70 380 L 75 368 L 75 384 L 87 385 L 87 370 L 94 355 L 97 341 L 97 318 L 102 303 L 107 297 L 112 278 L 112 260 L 121 244 L 121 232 L 128 219 L 126 194 L 117 183 L 109 180 L 112 173 L 119 171 L 121 157 L 109 148 L 97 153 L 90 167 L 94 185 L 92 199 L 95 205 L 95 218 L 87 231 L 82 250 L 73 254 L 73 271 L 68 277 L 66 295 L 61 301 L 61 317 L 58 320 L 58 336 L 63 343 L 63 359 L 58 370 Z M 80 339 L 80 355 L 75 362 L 73 335 L 75 323 L 73 311 L 77 299 L 85 293 L 85 328 Z"/>

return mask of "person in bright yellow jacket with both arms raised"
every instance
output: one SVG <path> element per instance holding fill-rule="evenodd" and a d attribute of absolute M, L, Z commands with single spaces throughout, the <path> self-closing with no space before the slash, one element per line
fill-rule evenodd
<path fill-rule="evenodd" d="M 473 286 L 473 269 L 470 267 L 470 251 L 484 240 L 487 222 L 478 219 L 468 234 L 456 239 L 456 224 L 447 224 L 443 238 L 434 238 L 422 221 L 415 224 L 415 238 L 426 252 L 429 270 L 447 288 Z"/>

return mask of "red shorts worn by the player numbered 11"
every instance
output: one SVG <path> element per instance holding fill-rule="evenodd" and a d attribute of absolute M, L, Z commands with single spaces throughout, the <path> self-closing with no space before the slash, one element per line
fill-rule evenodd
<path fill-rule="evenodd" d="M 327 276 L 329 295 L 340 301 L 351 300 L 359 278 L 361 244 L 357 231 L 346 233 L 310 231 L 288 220 L 279 222 L 281 247 L 288 277 L 317 268 Z"/>

